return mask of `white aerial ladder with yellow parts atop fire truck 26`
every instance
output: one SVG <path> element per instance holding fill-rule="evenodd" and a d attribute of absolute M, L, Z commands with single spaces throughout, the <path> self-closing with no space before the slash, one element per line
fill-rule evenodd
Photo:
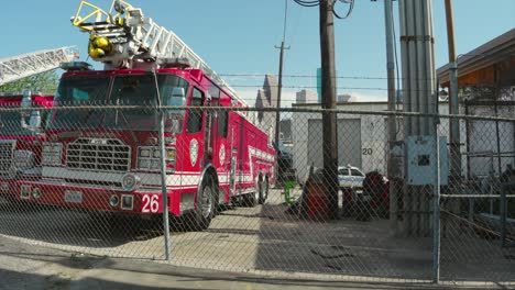
<path fill-rule="evenodd" d="M 113 45 L 111 53 L 94 57 L 97 62 L 130 67 L 133 59 L 187 58 L 193 68 L 201 69 L 218 86 L 246 105 L 235 91 L 173 31 L 145 18 L 142 9 L 129 2 L 113 0 L 109 12 L 83 0 L 72 23 L 83 30 L 106 37 Z M 90 38 L 91 40 L 91 38 Z"/>

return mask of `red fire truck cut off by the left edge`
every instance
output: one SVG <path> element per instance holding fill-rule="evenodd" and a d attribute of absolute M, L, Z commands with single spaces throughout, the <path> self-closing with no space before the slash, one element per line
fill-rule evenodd
<path fill-rule="evenodd" d="M 37 108 L 51 108 L 53 99 L 53 96 L 31 94 L 30 91 L 24 96 L 0 97 L 0 108 L 4 109 L 0 113 L 0 194 L 7 199 L 19 197 L 18 180 L 37 180 L 41 177 L 41 146 L 44 141 L 42 126 L 47 111 L 40 111 Z M 29 103 L 34 110 L 11 110 Z"/>

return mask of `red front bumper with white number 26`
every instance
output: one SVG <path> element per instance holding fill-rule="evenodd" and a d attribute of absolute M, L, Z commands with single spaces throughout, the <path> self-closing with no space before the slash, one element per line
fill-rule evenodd
<path fill-rule="evenodd" d="M 23 180 L 18 183 L 18 192 L 23 200 L 50 205 L 134 214 L 163 212 L 162 194 L 158 188 L 142 187 L 134 191 L 124 191 L 59 181 Z M 168 207 L 168 209 L 172 213 L 176 212 L 174 208 Z"/>

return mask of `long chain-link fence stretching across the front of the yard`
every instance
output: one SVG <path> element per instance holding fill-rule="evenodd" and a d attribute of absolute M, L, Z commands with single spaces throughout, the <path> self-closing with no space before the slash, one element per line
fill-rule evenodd
<path fill-rule="evenodd" d="M 0 235 L 266 276 L 515 281 L 515 120 L 460 116 L 451 176 L 445 115 L 282 109 L 275 144 L 274 109 L 211 105 L 0 108 Z M 405 134 L 424 118 L 438 138 Z"/>

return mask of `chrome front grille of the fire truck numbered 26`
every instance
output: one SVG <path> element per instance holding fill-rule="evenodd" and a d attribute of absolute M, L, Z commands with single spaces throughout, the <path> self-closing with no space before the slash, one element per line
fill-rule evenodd
<path fill-rule="evenodd" d="M 66 166 L 72 169 L 129 171 L 131 147 L 120 140 L 78 138 L 68 144 Z"/>

